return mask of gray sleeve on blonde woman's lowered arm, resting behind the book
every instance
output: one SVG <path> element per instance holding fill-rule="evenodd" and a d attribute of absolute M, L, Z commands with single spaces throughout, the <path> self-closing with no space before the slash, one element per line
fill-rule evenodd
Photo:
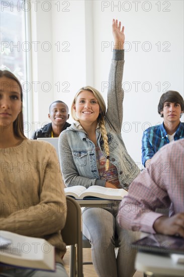
<path fill-rule="evenodd" d="M 80 176 L 73 161 L 72 152 L 68 144 L 67 135 L 69 131 L 62 131 L 59 135 L 59 160 L 63 176 L 63 181 L 67 187 L 69 186 L 89 186 L 99 185 L 105 186 L 106 180 L 97 180 Z"/>

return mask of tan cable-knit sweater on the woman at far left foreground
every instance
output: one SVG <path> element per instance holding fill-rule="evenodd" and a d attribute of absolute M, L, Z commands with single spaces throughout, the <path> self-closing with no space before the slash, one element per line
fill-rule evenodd
<path fill-rule="evenodd" d="M 56 261 L 62 262 L 66 199 L 55 149 L 26 139 L 1 149 L 0 158 L 0 229 L 46 239 L 55 246 Z"/>

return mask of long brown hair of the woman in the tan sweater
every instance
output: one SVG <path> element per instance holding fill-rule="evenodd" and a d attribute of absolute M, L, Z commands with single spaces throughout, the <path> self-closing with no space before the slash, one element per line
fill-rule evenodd
<path fill-rule="evenodd" d="M 17 82 L 17 84 L 19 85 L 20 91 L 21 91 L 21 102 L 23 103 L 22 86 L 21 86 L 20 81 L 17 79 L 17 77 L 8 70 L 4 70 L 4 71 L 0 70 L 0 78 L 2 78 L 2 77 L 6 77 L 6 78 L 12 79 Z M 23 121 L 23 111 L 22 110 L 18 114 L 16 120 L 13 122 L 13 130 L 14 130 L 14 134 L 17 137 L 27 138 L 24 135 L 24 121 Z"/>

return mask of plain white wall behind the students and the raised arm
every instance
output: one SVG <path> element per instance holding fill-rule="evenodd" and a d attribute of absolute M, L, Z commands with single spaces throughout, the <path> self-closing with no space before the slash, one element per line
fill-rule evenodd
<path fill-rule="evenodd" d="M 40 125 L 45 122 L 48 106 L 54 100 L 60 99 L 70 107 L 74 94 L 84 85 L 96 87 L 106 98 L 104 82 L 108 82 L 112 58 L 111 24 L 113 18 L 121 20 L 126 35 L 122 136 L 141 167 L 142 132 L 162 122 L 157 113 L 161 94 L 176 90 L 183 96 L 183 2 L 50 3 L 48 12 L 44 11 L 46 5 L 32 11 L 33 19 L 36 17 L 32 35 L 52 45 L 49 52 L 33 53 L 37 80 L 52 85 L 48 93 L 34 93 L 33 120 Z"/>

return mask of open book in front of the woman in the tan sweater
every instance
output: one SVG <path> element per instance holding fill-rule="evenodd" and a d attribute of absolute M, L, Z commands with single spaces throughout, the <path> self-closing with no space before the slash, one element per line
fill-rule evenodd
<path fill-rule="evenodd" d="M 54 246 L 45 239 L 0 231 L 0 263 L 42 270 L 55 270 Z"/>

